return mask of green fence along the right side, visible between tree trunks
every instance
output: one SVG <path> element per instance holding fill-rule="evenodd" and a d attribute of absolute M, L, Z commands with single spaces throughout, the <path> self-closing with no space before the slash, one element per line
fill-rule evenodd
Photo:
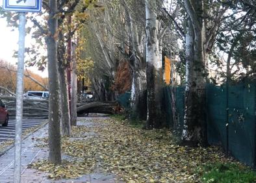
<path fill-rule="evenodd" d="M 171 95 L 170 91 L 166 87 L 165 97 Z M 181 130 L 184 120 L 184 92 L 184 87 L 175 90 L 178 130 Z M 244 82 L 228 88 L 226 85 L 207 84 L 206 98 L 209 143 L 222 145 L 241 162 L 255 166 L 255 84 Z M 171 104 L 172 98 L 168 97 L 166 105 Z M 172 123 L 172 116 L 169 115 L 168 120 Z"/>

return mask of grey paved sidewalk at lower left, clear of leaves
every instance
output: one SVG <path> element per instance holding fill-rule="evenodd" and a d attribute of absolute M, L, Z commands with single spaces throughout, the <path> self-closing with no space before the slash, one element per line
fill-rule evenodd
<path fill-rule="evenodd" d="M 78 125 L 80 125 L 79 122 Z M 45 127 L 40 128 L 36 132 L 32 133 L 28 138 L 23 140 L 21 152 L 21 182 L 117 182 L 116 180 L 114 180 L 114 175 L 105 175 L 100 171 L 91 173 L 90 175 L 84 175 L 83 177 L 77 179 L 51 180 L 47 178 L 47 173 L 38 171 L 36 169 L 27 168 L 27 165 L 31 164 L 32 162 L 47 159 L 47 147 L 38 147 L 38 141 L 36 141 L 36 139 L 38 138 L 47 137 L 47 129 L 48 125 L 45 125 Z M 90 136 L 90 134 L 88 134 L 88 136 Z M 0 157 L 0 182 L 13 182 L 13 179 L 14 147 Z"/>

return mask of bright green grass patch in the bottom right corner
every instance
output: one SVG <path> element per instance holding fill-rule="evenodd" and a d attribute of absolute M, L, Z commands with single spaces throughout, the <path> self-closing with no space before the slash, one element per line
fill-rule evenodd
<path fill-rule="evenodd" d="M 210 164 L 201 169 L 204 183 L 250 183 L 256 182 L 256 172 L 241 164 Z"/>

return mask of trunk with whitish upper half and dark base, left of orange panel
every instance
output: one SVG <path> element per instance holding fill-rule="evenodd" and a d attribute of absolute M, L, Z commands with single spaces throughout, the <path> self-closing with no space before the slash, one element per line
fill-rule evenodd
<path fill-rule="evenodd" d="M 162 126 L 162 63 L 159 60 L 159 40 L 155 1 L 146 0 L 146 75 L 147 128 Z"/>

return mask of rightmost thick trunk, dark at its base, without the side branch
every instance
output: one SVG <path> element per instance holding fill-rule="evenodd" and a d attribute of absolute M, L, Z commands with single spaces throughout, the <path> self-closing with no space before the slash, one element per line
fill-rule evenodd
<path fill-rule="evenodd" d="M 188 33 L 186 35 L 186 93 L 182 140 L 184 145 L 207 145 L 203 2 L 192 1 L 191 3 L 191 1 L 186 0 L 185 7 L 189 20 Z"/>

